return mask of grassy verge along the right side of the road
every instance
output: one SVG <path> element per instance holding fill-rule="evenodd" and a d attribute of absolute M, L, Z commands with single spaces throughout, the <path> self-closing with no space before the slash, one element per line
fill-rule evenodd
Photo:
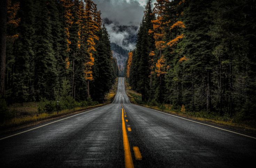
<path fill-rule="evenodd" d="M 173 109 L 170 104 L 162 104 L 157 102 L 147 102 L 144 103 L 141 101 L 141 94 L 136 93 L 131 89 L 129 83 L 125 80 L 125 91 L 129 97 L 131 103 L 141 105 L 154 110 L 164 111 L 171 114 L 176 114 L 182 117 L 187 117 L 199 121 L 204 121 L 208 123 L 213 123 L 219 126 L 234 127 L 242 129 L 243 131 L 256 131 L 256 122 L 255 121 L 244 121 L 239 120 L 237 117 L 229 117 L 228 115 L 218 115 L 214 112 L 208 113 L 206 111 L 186 111 L 184 109 Z"/>

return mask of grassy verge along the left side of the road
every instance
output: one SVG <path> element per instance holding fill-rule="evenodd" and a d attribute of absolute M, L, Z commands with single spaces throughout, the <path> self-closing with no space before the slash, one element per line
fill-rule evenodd
<path fill-rule="evenodd" d="M 25 127 L 28 125 L 33 125 L 35 123 L 53 120 L 70 114 L 76 114 L 87 109 L 92 109 L 95 107 L 109 104 L 113 101 L 116 95 L 117 81 L 118 80 L 116 79 L 116 82 L 113 84 L 109 93 L 104 98 L 104 104 L 86 105 L 81 107 L 75 107 L 72 109 L 64 109 L 59 111 L 59 113 L 57 113 L 57 111 L 53 111 L 50 113 L 40 113 L 38 111 L 38 107 L 40 106 L 40 104 L 42 104 L 41 102 L 26 102 L 23 103 L 23 106 L 20 103 L 14 103 L 13 105 L 8 106 L 9 119 L 4 120 L 0 123 L 0 130 L 3 131 L 11 130 L 18 127 Z"/>

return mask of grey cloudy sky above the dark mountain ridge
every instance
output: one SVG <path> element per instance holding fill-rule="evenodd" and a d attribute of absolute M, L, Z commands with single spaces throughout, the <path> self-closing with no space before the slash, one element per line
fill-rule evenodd
<path fill-rule="evenodd" d="M 93 0 L 101 10 L 101 18 L 109 18 L 119 25 L 139 25 L 146 0 Z"/>

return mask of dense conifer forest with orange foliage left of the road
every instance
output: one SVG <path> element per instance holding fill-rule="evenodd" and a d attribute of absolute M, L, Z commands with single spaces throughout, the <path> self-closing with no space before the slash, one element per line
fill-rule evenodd
<path fill-rule="evenodd" d="M 102 102 L 118 67 L 100 15 L 92 0 L 1 1 L 1 97 Z"/>

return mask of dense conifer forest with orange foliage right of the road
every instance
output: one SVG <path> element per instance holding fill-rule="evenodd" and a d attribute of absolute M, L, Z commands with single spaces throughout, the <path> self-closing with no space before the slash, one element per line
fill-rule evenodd
<path fill-rule="evenodd" d="M 147 3 L 126 77 L 143 102 L 256 118 L 256 1 Z"/>

